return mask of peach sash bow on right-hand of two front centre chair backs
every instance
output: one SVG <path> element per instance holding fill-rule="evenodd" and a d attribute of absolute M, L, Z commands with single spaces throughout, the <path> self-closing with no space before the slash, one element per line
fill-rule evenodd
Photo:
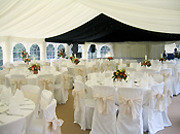
<path fill-rule="evenodd" d="M 136 111 L 134 104 L 136 103 L 137 105 L 142 105 L 142 98 L 143 98 L 142 96 L 139 96 L 138 98 L 130 99 L 119 95 L 119 104 L 125 105 L 123 114 L 126 115 L 131 114 L 132 118 L 135 119 Z"/>

